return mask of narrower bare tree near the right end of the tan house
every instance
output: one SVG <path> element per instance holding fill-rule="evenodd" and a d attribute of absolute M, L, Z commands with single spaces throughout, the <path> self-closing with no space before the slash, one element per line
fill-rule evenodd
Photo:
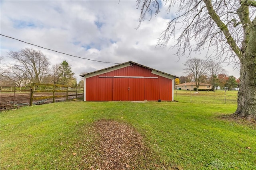
<path fill-rule="evenodd" d="M 212 84 L 212 90 L 215 91 L 215 87 L 218 86 L 218 74 L 226 74 L 226 70 L 220 65 L 219 62 L 208 62 L 208 77 L 209 82 Z"/>

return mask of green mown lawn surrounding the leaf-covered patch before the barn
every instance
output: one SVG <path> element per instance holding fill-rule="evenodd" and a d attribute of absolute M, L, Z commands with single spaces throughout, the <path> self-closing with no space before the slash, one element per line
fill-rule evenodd
<path fill-rule="evenodd" d="M 256 169 L 255 125 L 221 118 L 236 104 L 180 101 L 59 102 L 4 111 L 1 169 L 90 169 L 89 129 L 99 119 L 133 126 L 166 167 Z"/>

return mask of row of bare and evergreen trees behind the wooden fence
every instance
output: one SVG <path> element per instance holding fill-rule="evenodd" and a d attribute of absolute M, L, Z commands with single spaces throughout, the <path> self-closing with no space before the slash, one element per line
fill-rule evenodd
<path fill-rule="evenodd" d="M 13 63 L 1 66 L 2 86 L 26 86 L 31 83 L 77 86 L 75 73 L 67 61 L 50 66 L 46 55 L 33 48 L 10 51 L 7 55 Z"/>

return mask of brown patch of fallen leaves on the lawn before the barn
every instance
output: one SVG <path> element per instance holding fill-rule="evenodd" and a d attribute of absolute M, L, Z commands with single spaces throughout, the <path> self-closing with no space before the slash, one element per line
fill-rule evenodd
<path fill-rule="evenodd" d="M 143 144 L 142 136 L 125 123 L 103 119 L 92 129 L 98 135 L 88 154 L 94 159 L 91 170 L 172 169 L 159 163 L 156 154 Z"/>

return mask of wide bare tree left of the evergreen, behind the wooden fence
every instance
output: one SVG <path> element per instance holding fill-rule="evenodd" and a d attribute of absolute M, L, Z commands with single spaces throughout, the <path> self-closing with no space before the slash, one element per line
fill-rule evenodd
<path fill-rule="evenodd" d="M 19 70 L 19 74 L 24 74 L 26 78 L 34 83 L 41 82 L 50 65 L 50 62 L 41 51 L 36 51 L 32 48 L 22 49 L 18 52 L 10 51 L 8 55 L 16 61 L 16 64 L 12 64 L 12 67 L 15 70 Z"/>

